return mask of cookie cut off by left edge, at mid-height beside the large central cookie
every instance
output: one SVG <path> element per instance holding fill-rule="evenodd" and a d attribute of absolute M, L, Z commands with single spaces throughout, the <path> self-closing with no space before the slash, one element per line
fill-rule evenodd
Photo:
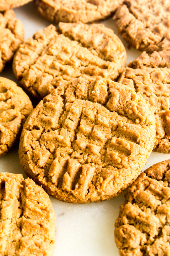
<path fill-rule="evenodd" d="M 16 144 L 32 110 L 27 94 L 13 81 L 0 77 L 0 156 Z"/>

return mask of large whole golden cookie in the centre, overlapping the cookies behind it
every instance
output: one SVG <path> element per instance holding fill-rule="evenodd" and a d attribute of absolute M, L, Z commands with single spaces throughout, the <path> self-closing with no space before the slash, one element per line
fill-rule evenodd
<path fill-rule="evenodd" d="M 155 119 L 141 95 L 101 77 L 74 79 L 36 106 L 22 130 L 20 163 L 53 197 L 66 202 L 110 199 L 145 165 Z"/>

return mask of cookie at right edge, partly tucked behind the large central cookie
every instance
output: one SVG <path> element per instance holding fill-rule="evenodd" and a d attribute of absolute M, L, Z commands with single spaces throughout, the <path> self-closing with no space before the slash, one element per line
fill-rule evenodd
<path fill-rule="evenodd" d="M 149 102 L 155 113 L 154 151 L 170 153 L 170 51 L 143 52 L 131 62 L 120 83 L 132 87 Z"/>

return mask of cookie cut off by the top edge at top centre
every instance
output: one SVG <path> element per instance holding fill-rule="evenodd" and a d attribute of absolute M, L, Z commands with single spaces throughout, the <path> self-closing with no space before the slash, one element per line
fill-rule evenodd
<path fill-rule="evenodd" d="M 123 0 L 36 0 L 37 11 L 53 23 L 92 22 L 104 19 L 121 4 Z"/>

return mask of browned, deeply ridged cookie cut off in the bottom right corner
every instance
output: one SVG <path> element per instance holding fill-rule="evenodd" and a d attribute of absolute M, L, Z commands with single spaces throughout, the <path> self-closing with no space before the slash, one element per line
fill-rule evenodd
<path fill-rule="evenodd" d="M 170 160 L 141 173 L 127 190 L 115 222 L 120 256 L 168 255 Z"/>

